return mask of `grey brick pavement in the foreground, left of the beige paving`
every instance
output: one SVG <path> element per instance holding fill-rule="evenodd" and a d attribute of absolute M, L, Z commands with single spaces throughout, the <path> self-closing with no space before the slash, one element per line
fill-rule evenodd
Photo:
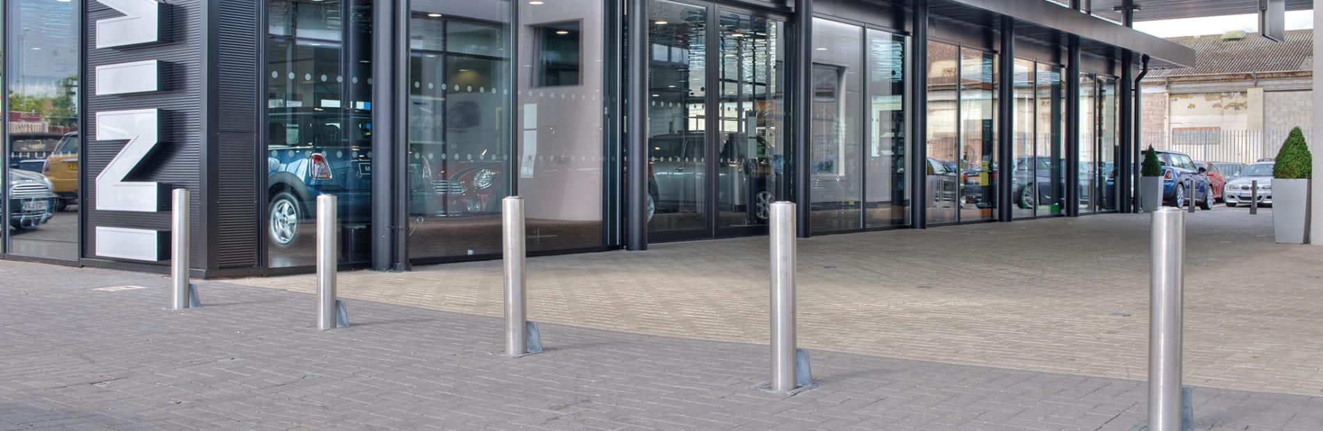
<path fill-rule="evenodd" d="M 0 262 L 0 430 L 1129 430 L 1138 381 L 812 350 L 818 389 L 754 389 L 767 346 L 544 324 L 546 353 L 493 354 L 496 317 Z M 112 286 L 143 290 L 95 291 Z M 934 290 L 937 291 L 937 290 Z M 1323 398 L 1199 387 L 1197 424 L 1320 430 Z"/>

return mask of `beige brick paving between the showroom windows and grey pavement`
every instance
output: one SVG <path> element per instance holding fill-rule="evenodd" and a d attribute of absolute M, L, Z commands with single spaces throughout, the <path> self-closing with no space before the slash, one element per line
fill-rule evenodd
<path fill-rule="evenodd" d="M 1148 216 L 799 242 L 800 342 L 872 356 L 1144 379 Z M 1187 382 L 1323 395 L 1323 247 L 1275 245 L 1271 210 L 1189 214 Z M 528 260 L 542 321 L 767 342 L 767 239 Z M 501 315 L 499 262 L 341 274 L 343 296 Z M 311 276 L 234 280 L 312 291 Z"/>

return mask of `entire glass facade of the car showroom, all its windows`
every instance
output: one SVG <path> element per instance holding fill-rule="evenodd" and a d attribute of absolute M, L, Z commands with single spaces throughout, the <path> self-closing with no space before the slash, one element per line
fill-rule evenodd
<path fill-rule="evenodd" d="M 86 230 L 78 188 L 87 178 L 78 160 L 89 160 L 78 131 L 83 5 L 3 4 L 0 24 L 11 24 L 0 45 L 9 155 L 4 253 L 93 258 L 79 255 Z M 265 160 L 255 266 L 315 263 L 315 201 L 323 194 L 339 198 L 345 264 L 372 260 L 373 209 L 386 206 L 404 213 L 392 219 L 405 223 L 390 230 L 405 231 L 410 262 L 496 258 L 500 200 L 515 194 L 525 200 L 531 251 L 620 246 L 628 135 L 615 128 L 630 83 L 619 77 L 628 67 L 619 5 L 411 0 L 401 4 L 407 46 L 380 46 L 370 0 L 262 4 L 266 134 L 254 148 Z M 1062 214 L 1064 205 L 1118 208 L 1115 78 L 1082 73 L 1080 91 L 1065 94 L 1060 65 L 1016 59 L 1003 77 L 991 46 L 970 38 L 910 41 L 872 28 L 872 19 L 819 17 L 808 53 L 811 108 L 802 115 L 808 159 L 795 163 L 789 132 L 796 115 L 786 104 L 795 97 L 786 67 L 794 63 L 790 16 L 720 1 L 646 4 L 651 242 L 759 235 L 778 200 L 807 201 L 814 234 L 910 226 L 916 216 L 934 225 L 996 221 L 1002 205 L 1011 205 L 1012 218 Z M 909 94 L 912 42 L 926 45 L 916 66 L 926 67 L 922 94 Z M 386 103 L 373 99 L 382 49 L 407 56 L 406 81 L 394 83 L 407 93 L 397 126 L 373 124 L 374 104 Z M 998 139 L 1002 85 L 1013 86 L 1012 141 Z M 1064 134 L 1069 97 L 1081 106 L 1078 136 Z M 913 112 L 914 99 L 926 110 Z M 906 139 L 912 115 L 926 118 L 922 144 Z M 380 127 L 405 136 L 374 143 Z M 1070 139 L 1078 152 L 1066 151 Z M 1000 145 L 1011 147 L 1012 160 L 1000 160 Z M 397 172 L 373 172 L 378 152 L 398 157 Z M 1078 172 L 1066 172 L 1068 157 Z M 1009 178 L 1000 177 L 1003 163 L 1012 164 Z M 922 178 L 912 167 L 922 167 Z M 794 196 L 795 171 L 807 173 L 808 196 Z M 402 186 L 406 202 L 374 196 L 382 181 Z M 1011 196 L 1000 196 L 1002 181 L 1011 181 Z M 1078 201 L 1064 201 L 1066 181 L 1078 181 Z M 917 184 L 923 196 L 914 194 Z"/>

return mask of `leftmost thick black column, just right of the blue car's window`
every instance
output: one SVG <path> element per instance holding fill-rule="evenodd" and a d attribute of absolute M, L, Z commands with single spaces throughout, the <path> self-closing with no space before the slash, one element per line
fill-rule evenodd
<path fill-rule="evenodd" d="M 397 119 L 406 118 L 406 112 L 396 112 L 396 32 L 406 32 L 405 28 L 396 28 L 396 8 L 405 8 L 398 1 L 376 0 L 372 4 L 372 40 L 378 49 L 372 50 L 372 123 L 377 130 L 372 134 L 372 172 L 377 175 L 372 180 L 372 268 L 389 271 L 394 262 L 394 245 L 392 243 L 390 226 L 394 225 L 394 185 L 392 177 L 396 169 L 396 143 L 400 141 L 396 128 L 392 126 Z M 407 34 L 405 34 L 407 37 Z M 409 46 L 407 44 L 404 46 Z M 407 70 L 407 69 L 406 69 Z M 385 202 L 382 202 L 385 201 Z M 345 238 L 345 241 L 353 241 Z"/>

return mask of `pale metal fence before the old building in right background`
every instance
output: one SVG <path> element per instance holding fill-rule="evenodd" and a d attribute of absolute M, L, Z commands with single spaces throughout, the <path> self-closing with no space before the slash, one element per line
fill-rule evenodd
<path fill-rule="evenodd" d="M 1310 131 L 1301 128 L 1306 139 Z M 1171 130 L 1143 134 L 1139 148 L 1177 151 L 1201 161 L 1254 163 L 1277 157 L 1290 130 Z"/>

